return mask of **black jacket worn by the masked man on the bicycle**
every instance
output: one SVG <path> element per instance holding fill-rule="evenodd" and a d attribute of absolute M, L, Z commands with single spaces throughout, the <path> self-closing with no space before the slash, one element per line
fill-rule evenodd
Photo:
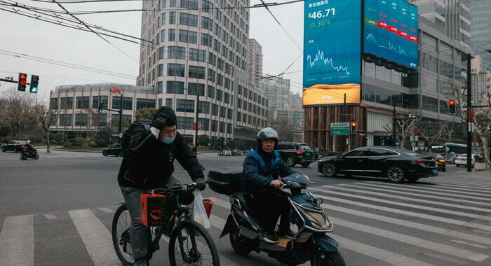
<path fill-rule="evenodd" d="M 156 114 L 159 115 L 169 117 L 173 121 L 177 120 L 171 109 Z M 130 152 L 124 156 L 119 168 L 120 186 L 161 188 L 174 172 L 175 159 L 187 170 L 191 179 L 204 178 L 203 167 L 179 133 L 172 144 L 163 144 L 142 125 L 133 130 L 128 148 Z"/>

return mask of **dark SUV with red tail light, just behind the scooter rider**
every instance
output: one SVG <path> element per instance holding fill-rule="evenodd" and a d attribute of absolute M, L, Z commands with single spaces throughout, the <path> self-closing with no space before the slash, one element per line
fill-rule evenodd
<path fill-rule="evenodd" d="M 314 152 L 309 144 L 297 142 L 280 142 L 276 149 L 281 155 L 281 159 L 286 162 L 289 167 L 294 167 L 297 164 L 302 167 L 308 167 L 314 162 Z"/>

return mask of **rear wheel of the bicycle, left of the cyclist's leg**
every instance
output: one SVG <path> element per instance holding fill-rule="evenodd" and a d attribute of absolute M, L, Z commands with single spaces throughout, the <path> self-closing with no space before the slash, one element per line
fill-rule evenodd
<path fill-rule="evenodd" d="M 135 260 L 130 244 L 131 217 L 126 204 L 122 204 L 112 218 L 112 244 L 116 255 L 125 266 L 133 266 Z"/>

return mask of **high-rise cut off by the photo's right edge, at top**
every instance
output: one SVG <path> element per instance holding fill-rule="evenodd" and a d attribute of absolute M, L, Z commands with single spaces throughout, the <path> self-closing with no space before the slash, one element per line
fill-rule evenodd
<path fill-rule="evenodd" d="M 483 59 L 483 71 L 491 71 L 491 1 L 471 0 L 472 48 Z"/>

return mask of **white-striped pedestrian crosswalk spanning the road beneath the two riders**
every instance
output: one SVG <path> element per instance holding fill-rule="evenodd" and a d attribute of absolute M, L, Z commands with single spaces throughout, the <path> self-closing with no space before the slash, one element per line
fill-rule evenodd
<path fill-rule="evenodd" d="M 348 265 L 491 265 L 491 182 L 355 181 L 308 191 L 323 199 L 335 224 L 329 235 Z M 68 265 L 121 265 L 110 233 L 116 208 L 0 218 L 0 265 L 67 265 L 71 258 Z M 210 235 L 221 264 L 278 265 L 264 254 L 236 255 L 219 238 L 228 211 L 228 198 L 215 195 Z M 153 265 L 168 265 L 165 245 Z M 58 255 L 51 259 L 50 251 Z"/>

